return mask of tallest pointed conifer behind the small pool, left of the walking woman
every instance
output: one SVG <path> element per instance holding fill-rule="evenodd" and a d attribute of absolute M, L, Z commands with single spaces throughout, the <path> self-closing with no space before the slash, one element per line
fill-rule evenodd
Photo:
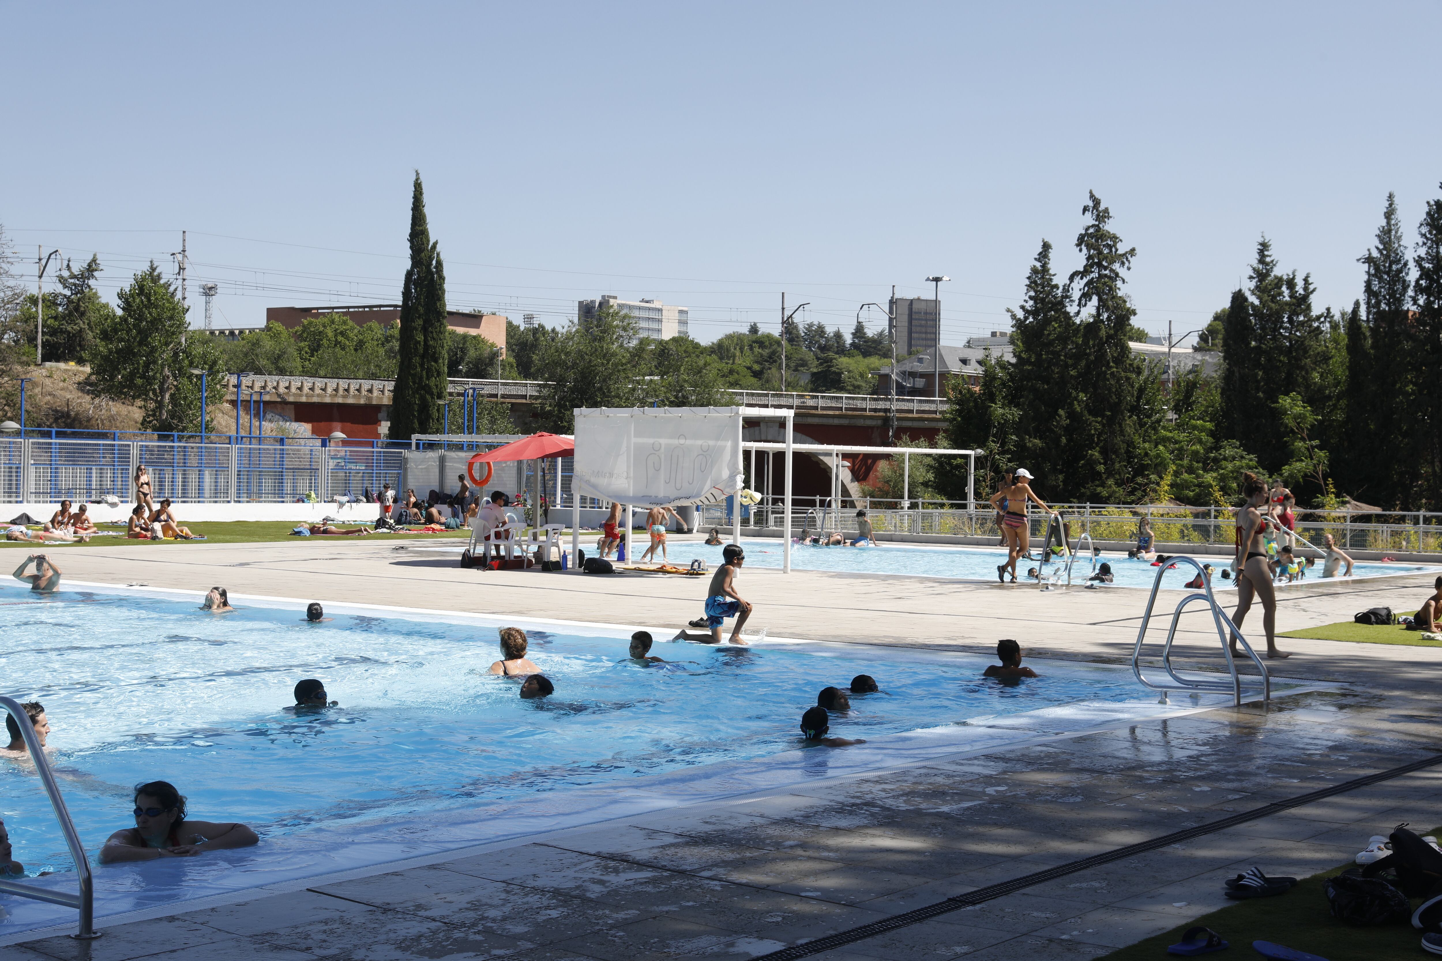
<path fill-rule="evenodd" d="M 1082 268 L 1067 278 L 1067 292 L 1076 292 L 1082 321 L 1080 347 L 1074 359 L 1079 421 L 1071 429 L 1076 481 L 1071 497 L 1120 503 L 1135 487 L 1138 462 L 1138 409 L 1142 395 L 1138 377 L 1145 375 L 1132 356 L 1128 333 L 1136 311 L 1122 294 L 1123 272 L 1131 269 L 1136 248 L 1122 249 L 1122 238 L 1110 229 L 1112 212 L 1089 193 L 1082 213 L 1090 218 L 1076 248 Z M 1080 314 L 1090 307 L 1090 313 Z M 1138 491 L 1132 491 L 1138 493 Z"/>

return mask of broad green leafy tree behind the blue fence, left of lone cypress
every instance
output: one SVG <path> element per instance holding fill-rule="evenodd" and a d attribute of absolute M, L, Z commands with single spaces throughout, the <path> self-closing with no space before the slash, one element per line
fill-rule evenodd
<path fill-rule="evenodd" d="M 200 377 L 190 370 L 225 370 L 215 341 L 186 336 L 185 307 L 153 261 L 117 300 L 120 313 L 95 330 L 88 356 L 97 393 L 140 403 L 147 431 L 198 429 Z M 211 403 L 222 402 L 225 377 L 212 376 L 209 389 Z"/>

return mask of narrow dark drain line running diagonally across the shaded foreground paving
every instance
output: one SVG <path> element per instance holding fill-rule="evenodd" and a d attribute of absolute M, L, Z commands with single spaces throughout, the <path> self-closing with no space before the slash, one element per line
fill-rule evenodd
<path fill-rule="evenodd" d="M 917 908 L 914 911 L 907 911 L 900 915 L 883 918 L 881 921 L 872 921 L 870 924 L 864 924 L 858 928 L 852 928 L 851 931 L 839 931 L 832 935 L 816 938 L 815 941 L 808 941 L 805 944 L 782 948 L 780 951 L 771 951 L 770 954 L 763 954 L 757 958 L 753 958 L 753 961 L 796 961 L 797 958 L 806 958 L 813 954 L 822 954 L 825 951 L 844 948 L 848 944 L 865 941 L 867 938 L 875 938 L 877 935 L 888 934 L 898 928 L 907 928 L 914 924 L 921 924 L 923 921 L 930 921 L 932 918 L 937 918 L 940 915 L 946 915 L 953 911 L 960 911 L 962 908 L 972 908 L 975 905 L 982 905 L 988 900 L 994 900 L 1004 895 L 1012 895 L 1017 893 L 1018 890 L 1025 890 L 1027 888 L 1034 888 L 1040 883 L 1056 880 L 1057 877 L 1066 877 L 1067 875 L 1074 875 L 1077 872 L 1089 870 L 1092 867 L 1100 867 L 1102 864 L 1110 864 L 1112 862 L 1125 860 L 1136 854 L 1155 852 L 1161 847 L 1177 844 L 1180 841 L 1187 841 L 1194 837 L 1204 837 L 1207 834 L 1224 831 L 1229 827 L 1236 827 L 1239 824 L 1246 824 L 1247 821 L 1256 821 L 1263 817 L 1280 814 L 1282 811 L 1289 811 L 1295 807 L 1302 807 L 1314 801 L 1321 801 L 1335 794 L 1345 794 L 1347 791 L 1355 791 L 1357 788 L 1380 784 L 1381 781 L 1400 778 L 1405 774 L 1423 771 L 1426 768 L 1432 768 L 1439 764 L 1442 764 L 1442 755 L 1422 758 L 1420 761 L 1413 761 L 1412 764 L 1405 764 L 1397 768 L 1389 768 L 1386 771 L 1379 771 L 1377 774 L 1368 774 L 1366 777 L 1354 778 L 1351 781 L 1343 781 L 1341 784 L 1334 784 L 1331 787 L 1321 788 L 1319 791 L 1312 791 L 1309 794 L 1299 794 L 1285 801 L 1275 801 L 1265 807 L 1253 808 L 1250 811 L 1243 811 L 1242 814 L 1233 814 L 1231 817 L 1224 817 L 1220 821 L 1208 821 L 1207 824 L 1200 824 L 1197 827 L 1188 827 L 1181 831 L 1174 831 L 1171 834 L 1154 837 L 1149 841 L 1128 844 L 1126 847 L 1118 847 L 1110 852 L 1103 852 L 1102 854 L 1093 854 L 1092 857 L 1083 857 L 1080 860 L 1069 862 L 1066 864 L 1057 864 L 1056 867 L 1032 872 L 1031 875 L 1022 875 L 1021 877 L 1014 877 L 1012 880 L 1004 880 L 998 885 L 988 885 L 986 888 L 978 888 L 976 890 L 968 892 L 965 895 L 956 895 L 955 898 L 947 898 L 946 900 L 939 900 L 937 903 L 927 905 L 926 908 Z"/>

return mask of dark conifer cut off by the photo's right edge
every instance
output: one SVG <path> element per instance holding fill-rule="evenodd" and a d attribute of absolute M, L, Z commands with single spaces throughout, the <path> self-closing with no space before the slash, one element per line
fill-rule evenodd
<path fill-rule="evenodd" d="M 1417 424 L 1409 461 L 1420 468 L 1420 504 L 1438 510 L 1442 509 L 1442 379 L 1438 377 L 1442 370 L 1442 199 L 1428 200 L 1417 225 L 1415 262 L 1412 380 L 1417 389 Z"/>

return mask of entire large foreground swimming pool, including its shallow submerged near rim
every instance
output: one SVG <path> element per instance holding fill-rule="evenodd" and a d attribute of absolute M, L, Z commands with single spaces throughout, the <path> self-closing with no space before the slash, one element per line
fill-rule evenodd
<path fill-rule="evenodd" d="M 528 634 L 557 692 L 523 702 L 516 680 L 487 673 L 505 621 L 336 607 L 307 624 L 303 605 L 241 599 L 212 615 L 198 601 L 0 591 L 4 692 L 45 705 L 92 859 L 133 826 L 131 787 L 150 779 L 173 782 L 193 817 L 262 836 L 99 867 L 99 915 L 1174 710 L 1107 666 L 1048 664 L 1008 686 L 982 680 L 988 658 L 972 656 L 658 643 L 671 663 L 643 667 L 624 660 L 629 630 L 554 625 Z M 868 743 L 799 749 L 818 690 L 858 673 L 883 693 L 855 697 L 832 732 Z M 304 677 L 340 706 L 297 715 Z M 0 817 L 27 869 L 72 866 L 33 766 L 0 761 Z M 0 903 L 0 938 L 74 919 Z"/>

